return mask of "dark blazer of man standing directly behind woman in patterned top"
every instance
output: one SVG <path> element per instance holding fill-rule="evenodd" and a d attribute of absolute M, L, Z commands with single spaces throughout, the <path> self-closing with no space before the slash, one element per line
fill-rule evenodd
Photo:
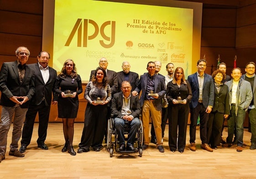
<path fill-rule="evenodd" d="M 89 82 L 92 81 L 92 77 L 94 76 L 94 73 L 95 73 L 95 70 L 92 70 Z M 107 83 L 110 85 L 111 94 L 112 95 L 115 94 L 116 89 L 118 88 L 116 72 L 109 69 L 107 70 Z"/>

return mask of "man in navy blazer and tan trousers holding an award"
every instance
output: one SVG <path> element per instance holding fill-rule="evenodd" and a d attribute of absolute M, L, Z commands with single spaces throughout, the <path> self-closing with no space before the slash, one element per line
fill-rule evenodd
<path fill-rule="evenodd" d="M 147 63 L 148 73 L 141 75 L 139 85 L 132 95 L 138 95 L 141 91 L 140 104 L 142 107 L 143 141 L 142 150 L 149 145 L 149 119 L 152 118 L 157 136 L 157 148 L 164 152 L 162 146 L 161 110 L 162 97 L 166 92 L 165 79 L 155 74 L 156 64 L 153 61 Z"/>

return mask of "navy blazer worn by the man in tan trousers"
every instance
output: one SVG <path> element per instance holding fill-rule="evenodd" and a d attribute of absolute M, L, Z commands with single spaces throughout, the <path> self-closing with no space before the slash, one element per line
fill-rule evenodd
<path fill-rule="evenodd" d="M 148 73 L 141 75 L 139 85 L 135 89 L 135 91 L 138 92 L 139 94 L 141 92 L 141 98 L 140 98 L 141 107 L 143 106 L 144 100 L 145 100 L 147 78 L 148 78 Z M 158 94 L 158 98 L 153 101 L 153 105 L 157 111 L 161 111 L 162 110 L 162 97 L 164 97 L 164 95 L 166 93 L 166 86 L 165 86 L 165 79 L 159 75 L 155 75 L 155 91 L 154 91 L 154 93 Z"/>

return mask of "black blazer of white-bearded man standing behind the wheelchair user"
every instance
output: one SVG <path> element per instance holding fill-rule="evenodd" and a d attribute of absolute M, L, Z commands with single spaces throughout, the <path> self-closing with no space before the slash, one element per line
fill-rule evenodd
<path fill-rule="evenodd" d="M 118 82 L 118 87 L 117 87 L 116 91 L 121 92 L 122 82 L 125 81 L 124 72 L 123 71 L 117 72 L 116 76 L 117 76 L 117 82 Z M 128 82 L 130 82 L 130 84 L 131 84 L 131 91 L 134 91 L 135 88 L 139 84 L 139 75 L 138 75 L 138 73 L 130 72 Z"/>

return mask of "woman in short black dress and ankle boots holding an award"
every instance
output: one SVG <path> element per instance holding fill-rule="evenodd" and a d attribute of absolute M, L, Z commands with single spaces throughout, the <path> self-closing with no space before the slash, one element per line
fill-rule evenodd
<path fill-rule="evenodd" d="M 74 121 L 78 113 L 78 94 L 83 92 L 81 77 L 77 74 L 73 60 L 64 62 L 61 73 L 56 78 L 54 91 L 58 97 L 58 118 L 63 121 L 65 144 L 62 152 L 76 155 L 73 149 Z"/>

